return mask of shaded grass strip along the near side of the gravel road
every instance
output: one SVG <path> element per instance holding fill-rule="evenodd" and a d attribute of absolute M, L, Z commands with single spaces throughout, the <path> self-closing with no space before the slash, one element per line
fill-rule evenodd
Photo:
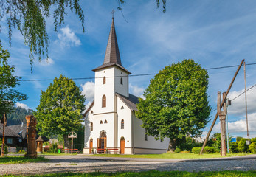
<path fill-rule="evenodd" d="M 70 177 L 103 177 L 103 176 L 111 176 L 111 177 L 134 177 L 134 176 L 186 176 L 186 177 L 192 177 L 192 176 L 225 176 L 225 177 L 240 177 L 240 176 L 256 176 L 256 171 L 221 171 L 221 172 L 182 172 L 182 171 L 156 171 L 151 170 L 147 172 L 122 172 L 122 173 L 100 173 L 100 172 L 94 172 L 94 173 L 52 173 L 52 174 L 46 174 L 46 175 L 33 175 L 35 177 L 58 177 L 58 176 L 70 176 Z M 18 176 L 16 176 L 18 177 Z M 32 177 L 32 176 L 31 176 Z"/>

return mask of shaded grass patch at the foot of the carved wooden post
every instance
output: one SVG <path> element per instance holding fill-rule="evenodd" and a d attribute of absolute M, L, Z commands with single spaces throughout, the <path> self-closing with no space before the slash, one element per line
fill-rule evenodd
<path fill-rule="evenodd" d="M 44 157 L 38 157 L 37 159 L 29 159 L 24 156 L 0 157 L 0 164 L 23 164 L 28 162 L 41 162 L 41 161 L 49 161 L 49 159 L 45 159 Z"/>

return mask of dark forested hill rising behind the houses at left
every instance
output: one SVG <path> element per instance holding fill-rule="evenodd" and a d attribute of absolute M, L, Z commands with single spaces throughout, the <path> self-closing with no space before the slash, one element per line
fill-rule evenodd
<path fill-rule="evenodd" d="M 32 115 L 32 110 L 28 111 L 21 107 L 13 107 L 13 111 L 7 114 L 7 125 L 18 125 L 23 122 L 26 124 L 26 116 Z"/>

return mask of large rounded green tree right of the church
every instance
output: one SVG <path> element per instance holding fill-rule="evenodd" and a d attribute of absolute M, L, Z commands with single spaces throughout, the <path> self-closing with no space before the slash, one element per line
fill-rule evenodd
<path fill-rule="evenodd" d="M 170 138 L 170 148 L 187 135 L 201 134 L 211 111 L 207 100 L 208 74 L 193 60 L 166 66 L 151 80 L 139 99 L 136 117 L 156 139 Z"/>

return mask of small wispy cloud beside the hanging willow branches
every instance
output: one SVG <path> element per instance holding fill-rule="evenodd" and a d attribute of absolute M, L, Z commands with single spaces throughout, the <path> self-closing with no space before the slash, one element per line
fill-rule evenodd
<path fill-rule="evenodd" d="M 55 41 L 61 47 L 80 46 L 82 43 L 69 26 L 63 27 L 58 33 L 58 40 Z"/>

